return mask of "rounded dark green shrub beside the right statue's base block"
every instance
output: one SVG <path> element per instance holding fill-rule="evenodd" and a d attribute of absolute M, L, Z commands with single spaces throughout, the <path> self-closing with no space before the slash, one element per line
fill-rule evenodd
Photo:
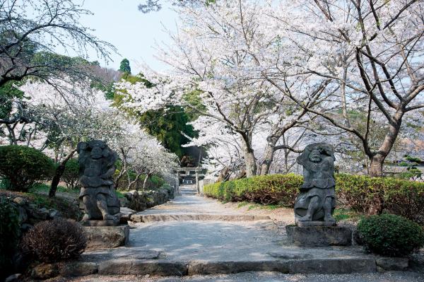
<path fill-rule="evenodd" d="M 358 223 L 366 249 L 388 257 L 402 257 L 424 246 L 424 229 L 402 216 L 374 215 Z"/>

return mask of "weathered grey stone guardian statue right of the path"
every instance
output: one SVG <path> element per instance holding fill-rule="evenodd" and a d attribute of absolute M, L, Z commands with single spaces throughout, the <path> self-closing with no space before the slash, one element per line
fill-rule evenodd
<path fill-rule="evenodd" d="M 295 201 L 296 225 L 336 225 L 334 160 L 334 147 L 326 143 L 312 143 L 299 155 L 304 182 Z"/>

